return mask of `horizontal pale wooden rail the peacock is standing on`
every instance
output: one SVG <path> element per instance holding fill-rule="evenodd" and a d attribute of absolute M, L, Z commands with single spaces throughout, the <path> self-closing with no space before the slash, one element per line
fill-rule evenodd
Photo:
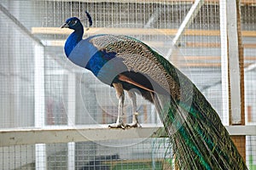
<path fill-rule="evenodd" d="M 256 135 L 256 126 L 228 126 L 230 135 Z M 109 129 L 107 125 L 101 127 L 44 127 L 28 129 L 2 129 L 0 130 L 0 146 L 22 144 L 55 144 L 81 141 L 99 141 L 110 139 L 139 139 L 159 138 L 163 127 L 143 125 L 142 128 Z"/>

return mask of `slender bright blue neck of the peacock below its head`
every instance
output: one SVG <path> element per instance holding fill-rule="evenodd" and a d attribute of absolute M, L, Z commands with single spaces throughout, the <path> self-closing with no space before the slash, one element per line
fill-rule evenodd
<path fill-rule="evenodd" d="M 65 42 L 65 54 L 68 58 L 69 54 L 71 54 L 73 48 L 76 47 L 76 45 L 82 40 L 82 37 L 84 35 L 84 29 L 83 27 L 73 31 L 72 34 L 67 38 L 67 41 Z"/>

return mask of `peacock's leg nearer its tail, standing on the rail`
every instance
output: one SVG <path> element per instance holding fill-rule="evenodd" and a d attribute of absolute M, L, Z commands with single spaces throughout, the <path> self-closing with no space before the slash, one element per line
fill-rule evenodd
<path fill-rule="evenodd" d="M 136 94 L 134 91 L 130 90 L 127 91 L 130 99 L 131 99 L 131 105 L 132 105 L 132 123 L 127 124 L 126 127 L 142 127 L 140 123 L 137 120 L 138 112 L 137 112 L 137 99 Z"/>

